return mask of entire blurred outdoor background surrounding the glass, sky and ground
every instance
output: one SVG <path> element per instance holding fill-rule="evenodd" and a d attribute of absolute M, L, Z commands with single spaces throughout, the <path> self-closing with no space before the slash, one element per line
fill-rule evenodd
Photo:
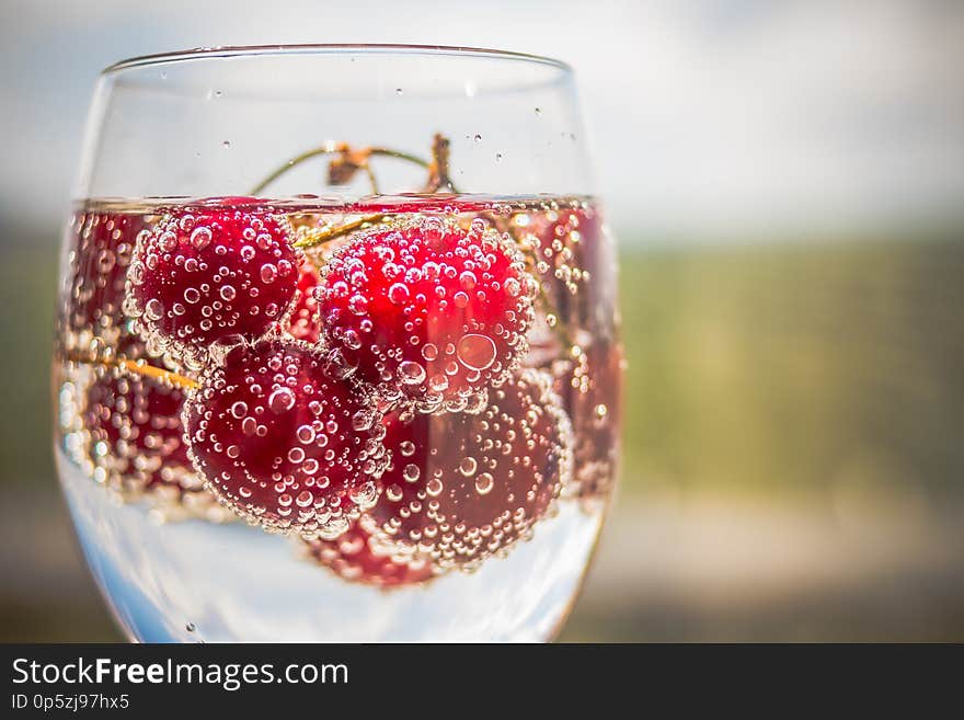
<path fill-rule="evenodd" d="M 285 42 L 576 68 L 630 369 L 620 493 L 562 639 L 964 640 L 955 0 L 0 0 L 0 640 L 119 638 L 49 449 L 96 73 Z"/>

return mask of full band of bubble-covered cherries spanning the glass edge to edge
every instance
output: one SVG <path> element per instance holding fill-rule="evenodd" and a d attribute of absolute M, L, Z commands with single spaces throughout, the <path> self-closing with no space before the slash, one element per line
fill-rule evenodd
<path fill-rule="evenodd" d="M 78 215 L 60 342 L 91 359 L 59 393 L 68 452 L 152 518 L 241 516 L 380 587 L 473 570 L 558 496 L 608 492 L 622 354 L 593 206 L 395 209 L 310 256 L 292 222 L 358 215 Z"/>

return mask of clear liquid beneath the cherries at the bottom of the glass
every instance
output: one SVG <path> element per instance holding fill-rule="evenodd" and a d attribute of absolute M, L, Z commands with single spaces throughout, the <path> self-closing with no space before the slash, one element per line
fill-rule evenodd
<path fill-rule="evenodd" d="M 601 504 L 560 503 L 505 559 L 382 590 L 243 523 L 159 525 L 147 503 L 117 505 L 62 453 L 58 464 L 88 563 L 142 642 L 542 641 L 564 620 L 602 522 Z"/>

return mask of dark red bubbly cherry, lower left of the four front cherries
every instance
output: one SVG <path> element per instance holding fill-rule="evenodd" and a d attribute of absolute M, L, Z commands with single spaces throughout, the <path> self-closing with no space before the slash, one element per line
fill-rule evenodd
<path fill-rule="evenodd" d="M 370 391 L 298 341 L 238 345 L 184 405 L 194 466 L 239 515 L 333 538 L 375 502 L 387 464 Z"/>

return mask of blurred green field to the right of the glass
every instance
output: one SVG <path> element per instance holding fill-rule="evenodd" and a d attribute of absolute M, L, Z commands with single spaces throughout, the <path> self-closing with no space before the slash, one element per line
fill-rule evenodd
<path fill-rule="evenodd" d="M 626 489 L 961 487 L 964 242 L 623 256 Z"/>

